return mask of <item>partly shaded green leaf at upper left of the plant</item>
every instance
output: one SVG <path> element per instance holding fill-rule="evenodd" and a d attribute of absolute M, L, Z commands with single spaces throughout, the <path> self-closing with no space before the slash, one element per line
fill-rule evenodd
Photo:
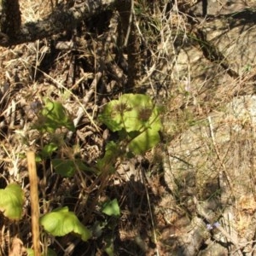
<path fill-rule="evenodd" d="M 56 129 L 66 127 L 70 131 L 75 131 L 72 119 L 69 118 L 66 109 L 61 102 L 51 102 L 46 100 L 45 106 L 39 116 L 38 131 L 55 132 Z"/>

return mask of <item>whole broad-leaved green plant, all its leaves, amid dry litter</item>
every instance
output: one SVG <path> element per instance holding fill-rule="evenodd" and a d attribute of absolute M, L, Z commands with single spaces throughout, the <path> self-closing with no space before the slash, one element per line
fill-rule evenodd
<path fill-rule="evenodd" d="M 160 141 L 159 131 L 162 126 L 159 109 L 154 106 L 149 96 L 141 94 L 120 96 L 119 100 L 108 102 L 99 119 L 111 131 L 117 132 L 119 139 L 107 143 L 105 154 L 96 161 L 95 166 L 86 166 L 83 160 L 70 157 L 71 154 L 68 153 L 63 154 L 63 150 L 61 151 L 62 154 L 57 154 L 57 157 L 52 159 L 54 153 L 61 150 L 61 147 L 63 149 L 64 140 L 61 137 L 64 137 L 64 134 L 62 134 L 62 127 L 66 127 L 69 131 L 75 131 L 75 127 L 61 102 L 46 100 L 44 108 L 38 113 L 38 121 L 33 125 L 42 135 L 40 137 L 41 147 L 38 151 L 38 162 L 42 162 L 43 169 L 45 169 L 44 160 L 48 159 L 51 161 L 55 172 L 61 177 L 73 177 L 77 171 L 94 173 L 106 181 L 102 182 L 104 185 L 101 185 L 99 189 L 98 193 L 101 193 L 108 183 L 109 174 L 115 171 L 117 158 L 144 154 Z M 68 151 L 67 148 L 66 151 Z M 105 175 L 102 176 L 102 173 L 105 173 Z M 45 170 L 44 176 L 46 177 Z M 0 211 L 3 212 L 6 218 L 20 219 L 23 203 L 24 195 L 20 185 L 13 183 L 5 189 L 0 189 Z M 98 204 L 97 201 L 95 203 Z M 79 236 L 83 241 L 90 239 L 92 232 L 79 221 L 75 212 L 70 212 L 68 207 L 56 208 L 51 212 L 46 212 L 47 207 L 45 206 L 44 215 L 40 218 L 40 224 L 45 232 L 51 236 L 66 236 L 72 233 Z M 90 211 L 88 212 L 90 214 Z M 113 234 L 116 227 L 116 218 L 119 218 L 121 214 L 117 199 L 102 203 L 101 212 L 106 218 L 103 222 L 96 223 L 95 227 L 92 228 L 95 236 L 101 236 L 102 229 L 107 229 Z M 108 255 L 113 255 L 113 236 L 105 235 L 103 240 L 106 242 L 105 252 Z M 32 249 L 28 249 L 28 253 L 33 255 Z M 48 255 L 55 255 L 55 253 L 49 249 Z"/>

